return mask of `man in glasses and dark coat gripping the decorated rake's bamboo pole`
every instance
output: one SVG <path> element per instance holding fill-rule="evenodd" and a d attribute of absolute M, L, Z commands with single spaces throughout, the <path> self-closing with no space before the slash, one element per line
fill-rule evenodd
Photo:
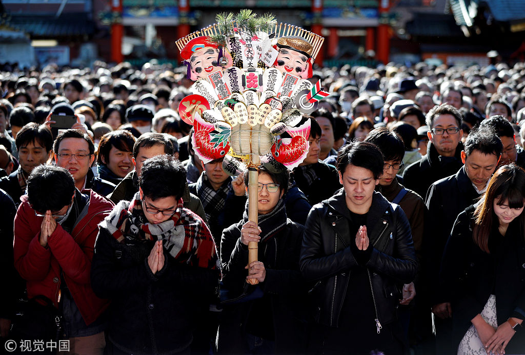
<path fill-rule="evenodd" d="M 248 171 L 244 175 L 248 184 Z M 248 220 L 248 206 L 221 239 L 222 301 L 217 351 L 241 353 L 306 353 L 306 283 L 299 271 L 304 227 L 291 221 L 283 197 L 289 174 L 261 167 L 258 175 L 257 223 Z M 248 243 L 258 246 L 258 261 L 249 265 Z M 256 286 L 247 279 L 257 279 Z M 250 294 L 259 294 L 253 297 Z"/>

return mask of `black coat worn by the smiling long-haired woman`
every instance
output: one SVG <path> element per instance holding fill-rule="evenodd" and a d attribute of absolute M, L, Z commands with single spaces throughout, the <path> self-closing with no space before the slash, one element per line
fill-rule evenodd
<path fill-rule="evenodd" d="M 494 229 L 489 237 L 488 254 L 472 239 L 474 206 L 462 212 L 448 238 L 439 283 L 446 302 L 451 303 L 454 346 L 481 313 L 491 294 L 496 295 L 498 325 L 509 317 L 525 319 L 525 236 L 523 226 L 514 219 L 505 237 Z M 518 330 L 505 352 L 522 354 L 525 333 Z"/>

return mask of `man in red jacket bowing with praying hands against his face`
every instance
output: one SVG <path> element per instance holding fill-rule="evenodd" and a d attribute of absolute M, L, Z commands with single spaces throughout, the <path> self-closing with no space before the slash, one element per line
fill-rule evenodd
<path fill-rule="evenodd" d="M 14 222 L 15 268 L 29 298 L 45 296 L 62 313 L 70 351 L 102 355 L 109 301 L 90 284 L 98 224 L 113 207 L 91 190 L 80 193 L 64 168 L 36 167 Z"/>

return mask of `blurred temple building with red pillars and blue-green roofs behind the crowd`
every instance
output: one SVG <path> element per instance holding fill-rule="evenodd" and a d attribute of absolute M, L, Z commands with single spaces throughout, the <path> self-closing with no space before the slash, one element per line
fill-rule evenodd
<path fill-rule="evenodd" d="M 523 60 L 523 0 L 0 0 L 0 62 L 180 64 L 175 41 L 241 8 L 325 37 L 317 63 Z"/>

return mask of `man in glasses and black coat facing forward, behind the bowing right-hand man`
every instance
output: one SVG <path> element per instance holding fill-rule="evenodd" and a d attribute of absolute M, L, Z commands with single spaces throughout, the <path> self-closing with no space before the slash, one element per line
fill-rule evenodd
<path fill-rule="evenodd" d="M 426 115 L 429 128 L 427 154 L 405 168 L 403 184 L 419 196 L 427 195 L 428 187 L 439 179 L 455 174 L 461 162 L 461 115 L 453 106 L 434 106 Z"/>

